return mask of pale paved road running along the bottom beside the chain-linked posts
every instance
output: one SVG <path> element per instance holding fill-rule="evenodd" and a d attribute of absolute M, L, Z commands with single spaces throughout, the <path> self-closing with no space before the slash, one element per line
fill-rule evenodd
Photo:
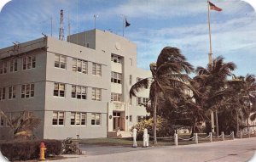
<path fill-rule="evenodd" d="M 91 147 L 86 155 L 61 159 L 61 162 L 242 162 L 250 159 L 256 150 L 256 138 L 235 141 L 207 142 L 183 146 L 125 148 Z"/>

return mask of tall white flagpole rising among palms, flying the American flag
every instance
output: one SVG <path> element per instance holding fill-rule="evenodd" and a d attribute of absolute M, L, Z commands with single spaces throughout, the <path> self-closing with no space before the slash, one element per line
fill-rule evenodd
<path fill-rule="evenodd" d="M 210 42 L 210 53 L 208 54 L 208 60 L 209 64 L 212 64 L 212 36 L 211 36 L 211 23 L 210 23 L 210 4 L 209 0 L 207 0 L 207 7 L 208 7 L 208 27 L 209 27 L 209 42 Z M 212 126 L 212 132 L 214 132 L 214 113 L 212 109 L 210 110 L 211 112 L 211 126 Z M 217 135 L 218 136 L 218 135 Z"/>

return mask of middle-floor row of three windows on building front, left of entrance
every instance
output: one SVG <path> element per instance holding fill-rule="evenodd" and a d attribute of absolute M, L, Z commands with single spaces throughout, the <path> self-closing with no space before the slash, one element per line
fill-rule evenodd
<path fill-rule="evenodd" d="M 65 97 L 66 85 L 64 83 L 55 83 L 54 96 Z M 87 98 L 87 87 L 83 86 L 72 86 L 71 92 L 72 98 L 86 99 Z M 91 99 L 95 101 L 102 100 L 102 89 L 92 87 L 91 88 Z"/>

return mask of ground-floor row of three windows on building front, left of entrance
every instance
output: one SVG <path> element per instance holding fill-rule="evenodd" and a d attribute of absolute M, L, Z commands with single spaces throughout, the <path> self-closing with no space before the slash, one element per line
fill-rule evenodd
<path fill-rule="evenodd" d="M 86 113 L 81 112 L 71 112 L 70 114 L 70 125 L 72 126 L 86 126 Z M 90 114 L 90 125 L 100 126 L 102 115 L 98 113 Z M 52 125 L 54 126 L 64 126 L 65 123 L 65 112 L 55 111 L 52 115 Z"/>

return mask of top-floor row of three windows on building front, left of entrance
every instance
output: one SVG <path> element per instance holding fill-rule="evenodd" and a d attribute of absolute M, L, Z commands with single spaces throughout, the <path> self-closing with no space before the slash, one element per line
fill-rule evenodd
<path fill-rule="evenodd" d="M 55 68 L 66 69 L 67 57 L 61 54 L 55 54 Z M 88 74 L 88 61 L 83 59 L 73 59 L 72 70 Z M 102 75 L 102 64 L 92 63 L 92 75 Z"/>

